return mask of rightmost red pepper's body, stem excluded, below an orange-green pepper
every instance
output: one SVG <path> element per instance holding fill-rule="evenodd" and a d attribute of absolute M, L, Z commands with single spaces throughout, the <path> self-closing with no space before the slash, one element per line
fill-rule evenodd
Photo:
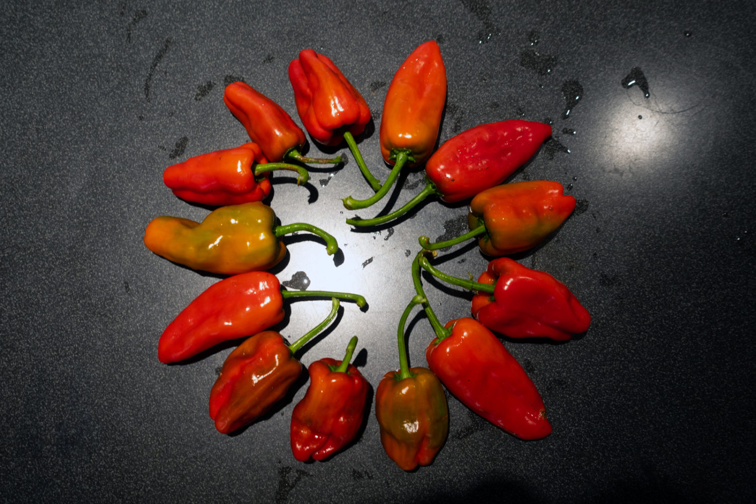
<path fill-rule="evenodd" d="M 590 326 L 590 314 L 575 295 L 544 271 L 503 257 L 489 262 L 478 281 L 495 284 L 493 301 L 485 292 L 472 297 L 472 316 L 492 331 L 565 341 Z"/>

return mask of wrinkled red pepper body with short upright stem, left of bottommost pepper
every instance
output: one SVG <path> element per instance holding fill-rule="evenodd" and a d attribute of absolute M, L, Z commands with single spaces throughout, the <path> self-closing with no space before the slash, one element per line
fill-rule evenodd
<path fill-rule="evenodd" d="M 291 450 L 300 462 L 327 459 L 362 425 L 367 380 L 352 364 L 345 373 L 331 370 L 340 363 L 327 357 L 308 367 L 310 386 L 291 414 Z"/>

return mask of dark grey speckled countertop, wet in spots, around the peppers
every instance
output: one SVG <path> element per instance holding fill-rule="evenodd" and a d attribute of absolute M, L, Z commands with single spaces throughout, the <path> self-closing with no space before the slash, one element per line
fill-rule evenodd
<path fill-rule="evenodd" d="M 754 21 L 752 2 L 698 0 L 2 2 L 0 499 L 753 502 Z M 302 464 L 289 422 L 304 380 L 268 418 L 218 434 L 207 399 L 231 346 L 175 366 L 156 358 L 165 326 L 218 281 L 142 243 L 157 215 L 208 213 L 172 196 L 163 169 L 246 141 L 222 101 L 228 82 L 299 122 L 287 65 L 314 48 L 367 100 L 373 122 L 358 142 L 385 178 L 383 97 L 429 39 L 448 74 L 440 141 L 483 122 L 550 121 L 553 137 L 511 180 L 559 181 L 578 199 L 517 259 L 567 284 L 590 329 L 562 344 L 504 341 L 553 434 L 519 441 L 450 396 L 445 447 L 404 473 L 383 452 L 373 405 L 349 449 Z M 305 187 L 275 175 L 271 206 L 283 223 L 329 230 L 343 254 L 290 238 L 274 273 L 367 297 L 367 311 L 344 305 L 302 363 L 340 358 L 358 334 L 376 387 L 398 366 L 417 237 L 454 236 L 466 206 L 430 201 L 355 231 L 340 202 L 369 194 L 355 163 L 311 174 Z M 382 208 L 361 213 L 397 207 L 422 180 L 405 172 Z M 459 277 L 486 263 L 474 245 L 435 260 Z M 425 286 L 440 319 L 469 313 L 468 292 Z M 328 308 L 292 303 L 276 329 L 301 335 Z M 419 310 L 408 331 L 411 363 L 425 366 L 432 332 Z"/>

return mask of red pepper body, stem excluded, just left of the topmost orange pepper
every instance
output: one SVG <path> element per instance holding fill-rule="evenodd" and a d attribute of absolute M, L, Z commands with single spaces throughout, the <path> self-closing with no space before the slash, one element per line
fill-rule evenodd
<path fill-rule="evenodd" d="M 299 59 L 289 64 L 289 80 L 299 118 L 321 144 L 338 145 L 343 131 L 359 135 L 370 121 L 367 102 L 323 54 L 301 51 Z"/>

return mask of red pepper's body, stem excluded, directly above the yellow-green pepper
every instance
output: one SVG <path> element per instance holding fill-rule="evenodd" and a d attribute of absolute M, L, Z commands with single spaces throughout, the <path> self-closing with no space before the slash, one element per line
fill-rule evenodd
<path fill-rule="evenodd" d="M 247 142 L 171 165 L 163 172 L 163 182 L 179 198 L 203 205 L 261 201 L 271 193 L 270 176 L 255 178 L 253 165 L 267 162 L 260 146 Z"/>

